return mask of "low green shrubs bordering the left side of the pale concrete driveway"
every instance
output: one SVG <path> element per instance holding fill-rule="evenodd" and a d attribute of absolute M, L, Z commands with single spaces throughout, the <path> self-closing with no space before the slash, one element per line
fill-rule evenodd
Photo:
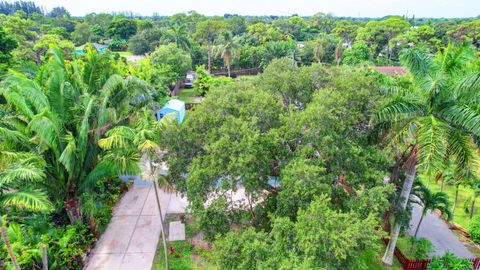
<path fill-rule="evenodd" d="M 84 254 L 96 242 L 95 230 L 90 227 L 89 216 L 94 216 L 95 226 L 103 231 L 110 221 L 113 206 L 125 190 L 126 185 L 118 178 L 98 182 L 91 193 L 83 194 L 84 222 L 73 225 L 65 225 L 68 218 L 64 211 L 52 215 L 9 213 L 12 217 L 29 216 L 26 220 L 20 218 L 19 221 L 10 221 L 7 227 L 9 240 L 20 267 L 38 269 L 36 266 L 42 265 L 40 246 L 46 244 L 50 269 L 82 269 Z M 0 238 L 0 261 L 1 258 L 8 258 L 8 255 Z M 13 269 L 13 265 L 6 261 L 4 268 Z"/>

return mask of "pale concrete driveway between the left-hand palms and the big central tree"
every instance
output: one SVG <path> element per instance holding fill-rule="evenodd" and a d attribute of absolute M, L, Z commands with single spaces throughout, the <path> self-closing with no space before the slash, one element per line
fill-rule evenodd
<path fill-rule="evenodd" d="M 187 201 L 160 191 L 162 213 L 184 213 Z M 160 218 L 151 183 L 136 181 L 116 205 L 86 270 L 150 270 L 160 239 Z"/>

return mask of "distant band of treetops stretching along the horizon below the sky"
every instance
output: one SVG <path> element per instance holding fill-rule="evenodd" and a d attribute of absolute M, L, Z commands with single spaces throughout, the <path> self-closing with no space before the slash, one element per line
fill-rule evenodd
<path fill-rule="evenodd" d="M 35 43 L 58 35 L 76 46 L 87 42 L 143 55 L 175 44 L 207 70 L 266 67 L 279 57 L 311 63 L 399 64 L 400 51 L 422 45 L 432 53 L 449 42 L 480 44 L 478 19 L 388 16 L 353 19 L 317 13 L 310 17 L 207 17 L 196 12 L 171 17 L 134 17 L 131 13 L 91 13 L 76 18 L 63 7 L 47 12 L 33 2 L 1 2 L 0 25 L 19 46 L 13 66 L 38 61 Z M 14 27 L 13 27 L 14 26 Z M 35 55 L 37 54 L 37 56 Z M 19 60 L 22 60 L 19 62 Z M 16 63 L 15 63 L 16 62 Z"/>

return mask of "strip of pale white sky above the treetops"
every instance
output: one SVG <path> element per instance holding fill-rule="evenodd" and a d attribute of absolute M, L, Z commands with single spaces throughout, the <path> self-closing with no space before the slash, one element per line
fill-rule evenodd
<path fill-rule="evenodd" d="M 132 11 L 141 15 L 172 15 L 195 10 L 201 14 L 223 15 L 313 15 L 383 17 L 475 17 L 480 15 L 480 0 L 33 0 L 52 9 L 64 6 L 74 16 L 91 12 Z M 9 2 L 12 2 L 11 0 Z"/>

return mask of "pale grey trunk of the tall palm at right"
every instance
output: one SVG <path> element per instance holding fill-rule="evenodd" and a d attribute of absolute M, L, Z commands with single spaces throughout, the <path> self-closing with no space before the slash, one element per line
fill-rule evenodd
<path fill-rule="evenodd" d="M 405 168 L 407 169 L 407 176 L 405 177 L 405 182 L 403 182 L 402 192 L 400 193 L 400 205 L 401 210 L 405 210 L 407 207 L 408 197 L 412 191 L 413 180 L 415 179 L 415 174 L 417 172 L 417 151 L 418 145 L 415 145 L 410 152 L 410 156 L 405 162 Z M 400 223 L 395 219 L 395 225 L 393 227 L 392 234 L 390 236 L 390 242 L 388 242 L 387 250 L 383 255 L 382 262 L 388 266 L 393 265 L 393 252 L 395 251 L 395 246 L 397 245 L 398 235 L 400 233 Z"/>

